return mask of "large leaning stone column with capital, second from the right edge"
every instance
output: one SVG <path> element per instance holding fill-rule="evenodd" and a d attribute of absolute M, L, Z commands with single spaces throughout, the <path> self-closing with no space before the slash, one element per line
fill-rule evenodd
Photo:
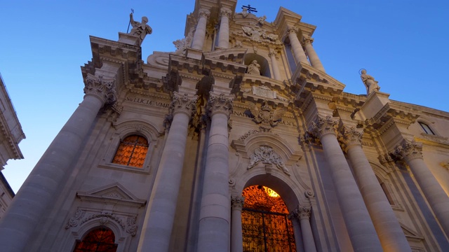
<path fill-rule="evenodd" d="M 341 140 L 384 251 L 410 251 L 406 235 L 361 146 L 363 130 L 344 127 Z"/>

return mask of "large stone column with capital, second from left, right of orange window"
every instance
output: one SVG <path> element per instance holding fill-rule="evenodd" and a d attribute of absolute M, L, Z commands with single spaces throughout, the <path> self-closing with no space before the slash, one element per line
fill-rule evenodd
<path fill-rule="evenodd" d="M 173 116 L 156 175 L 151 204 L 145 214 L 138 251 L 168 251 L 176 211 L 189 120 L 196 96 L 174 93 L 169 113 Z"/>

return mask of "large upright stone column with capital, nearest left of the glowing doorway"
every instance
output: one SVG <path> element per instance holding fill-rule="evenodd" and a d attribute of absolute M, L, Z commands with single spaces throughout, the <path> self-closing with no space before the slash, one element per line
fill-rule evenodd
<path fill-rule="evenodd" d="M 199 252 L 229 251 L 229 141 L 227 122 L 232 99 L 225 94 L 210 94 L 211 118 L 204 172 L 203 197 L 199 217 Z"/>

